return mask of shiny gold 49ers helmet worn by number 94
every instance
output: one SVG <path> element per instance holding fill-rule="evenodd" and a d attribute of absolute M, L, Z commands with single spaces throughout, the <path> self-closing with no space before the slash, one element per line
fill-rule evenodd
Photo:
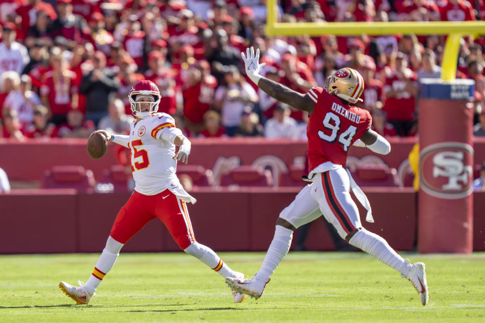
<path fill-rule="evenodd" d="M 327 77 L 323 88 L 332 95 L 356 103 L 362 101 L 360 96 L 364 91 L 364 79 L 359 72 L 346 67 Z"/>

